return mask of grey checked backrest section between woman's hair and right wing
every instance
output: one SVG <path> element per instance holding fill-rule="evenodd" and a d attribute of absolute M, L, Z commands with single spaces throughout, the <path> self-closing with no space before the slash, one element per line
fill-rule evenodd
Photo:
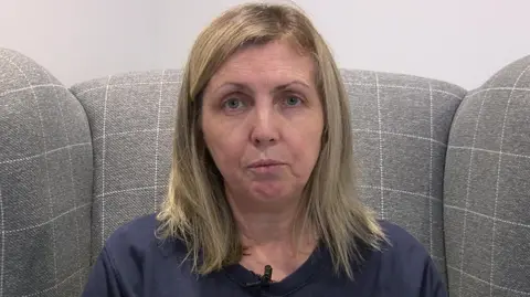
<path fill-rule="evenodd" d="M 361 199 L 411 232 L 445 277 L 443 172 L 466 91 L 410 75 L 342 71 Z"/>

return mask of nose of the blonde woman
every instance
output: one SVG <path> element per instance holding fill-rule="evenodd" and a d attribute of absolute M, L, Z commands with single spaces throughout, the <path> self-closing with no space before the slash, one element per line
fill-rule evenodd
<path fill-rule="evenodd" d="M 256 104 L 253 113 L 253 127 L 251 131 L 251 141 L 255 146 L 271 146 L 278 141 L 279 130 L 274 106 Z"/>

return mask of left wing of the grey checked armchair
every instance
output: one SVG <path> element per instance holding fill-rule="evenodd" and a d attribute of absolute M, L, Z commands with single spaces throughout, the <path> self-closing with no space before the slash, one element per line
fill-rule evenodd
<path fill-rule="evenodd" d="M 78 295 L 93 174 L 83 108 L 17 52 L 0 49 L 0 296 Z"/>

